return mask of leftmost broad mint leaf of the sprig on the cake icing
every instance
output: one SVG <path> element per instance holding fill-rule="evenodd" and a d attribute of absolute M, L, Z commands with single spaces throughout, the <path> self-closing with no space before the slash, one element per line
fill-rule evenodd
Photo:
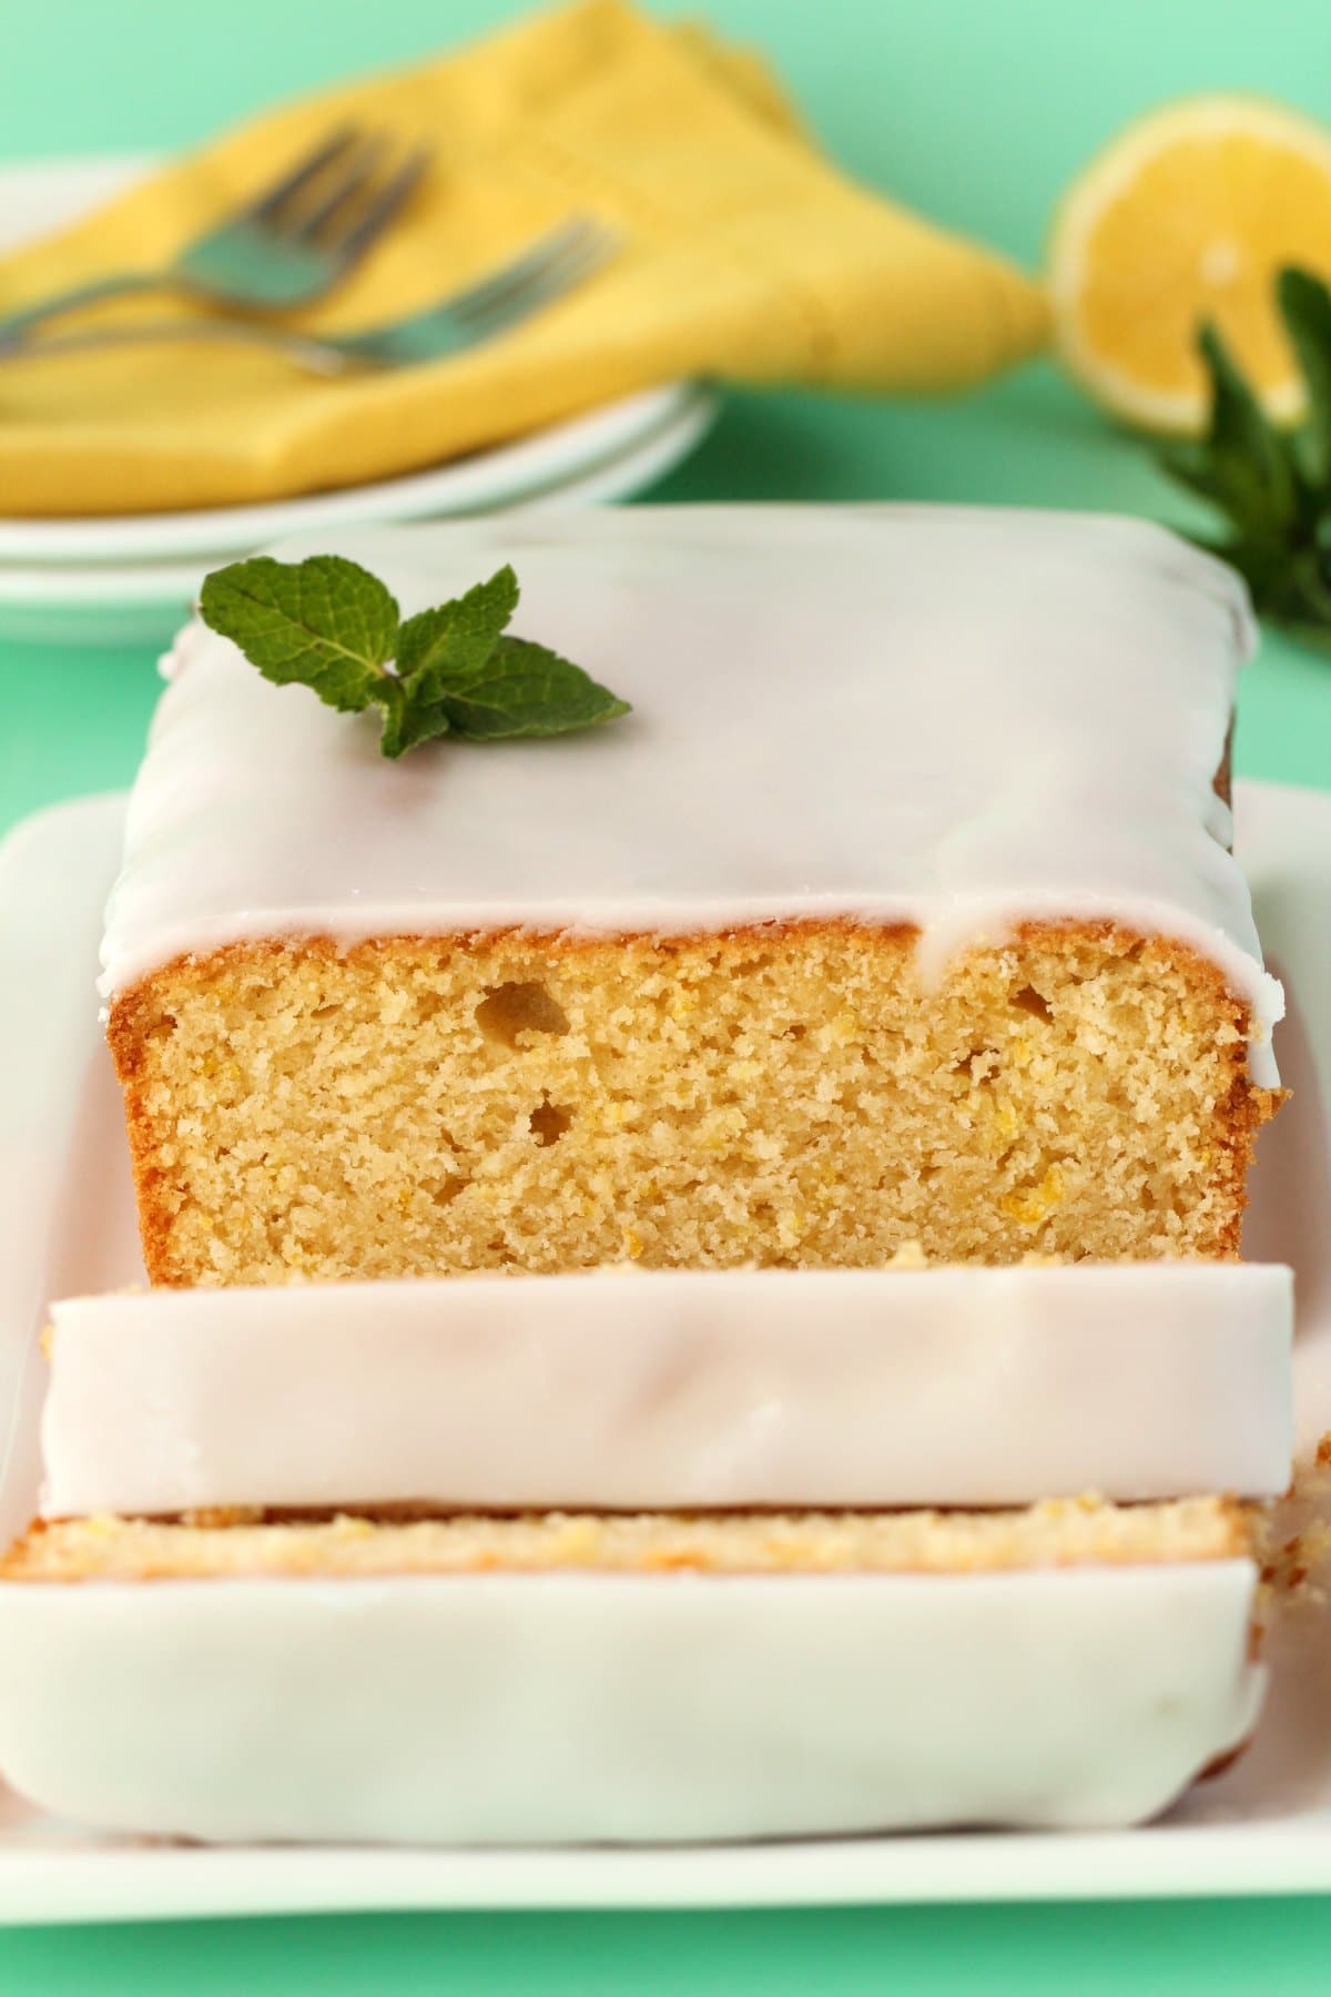
<path fill-rule="evenodd" d="M 399 621 L 385 583 L 343 555 L 295 563 L 255 555 L 214 569 L 204 579 L 200 615 L 265 679 L 313 687 L 343 713 L 375 699 Z"/>

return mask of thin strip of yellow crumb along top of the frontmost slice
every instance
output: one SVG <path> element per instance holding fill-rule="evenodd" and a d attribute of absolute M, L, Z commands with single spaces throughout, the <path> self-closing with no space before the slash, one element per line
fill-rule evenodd
<path fill-rule="evenodd" d="M 1251 1550 L 1231 1498 L 1024 1512 L 539 1512 L 511 1518 L 279 1518 L 231 1524 L 86 1518 L 38 1524 L 0 1564 L 8 1582 L 263 1574 L 1000 1574 L 1157 1566 Z"/>

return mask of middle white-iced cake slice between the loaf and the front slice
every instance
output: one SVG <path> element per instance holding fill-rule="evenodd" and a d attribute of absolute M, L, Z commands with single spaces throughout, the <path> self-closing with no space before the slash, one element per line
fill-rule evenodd
<path fill-rule="evenodd" d="M 1287 1268 L 908 1262 L 64 1298 L 40 1512 L 786 1512 L 1287 1488 Z"/>

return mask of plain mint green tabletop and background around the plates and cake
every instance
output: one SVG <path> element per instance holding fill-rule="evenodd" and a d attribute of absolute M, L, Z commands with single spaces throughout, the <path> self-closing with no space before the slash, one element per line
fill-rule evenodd
<path fill-rule="evenodd" d="M 0 0 L 0 158 L 188 144 L 263 98 L 405 60 L 497 0 Z M 661 8 L 661 12 L 672 12 Z M 1036 262 L 1050 204 L 1108 132 L 1187 90 L 1331 120 L 1325 0 L 710 0 L 762 44 L 840 160 Z M 2 391 L 2 381 L 0 381 Z M 2 419 L 2 397 L 0 397 Z M 655 497 L 912 497 L 1185 507 L 1048 365 L 938 405 L 734 395 Z M 0 511 L 4 495 L 0 493 Z M 0 827 L 126 783 L 152 661 L 0 645 Z M 1331 661 L 1267 637 L 1249 775 L 1331 787 Z M 1032 1879 L 1032 1893 L 1038 1879 Z M 415 1993 L 1225 1993 L 1331 1985 L 1331 1901 L 714 1915 L 399 1915 L 0 1935 L 0 1997 L 184 1989 Z"/>

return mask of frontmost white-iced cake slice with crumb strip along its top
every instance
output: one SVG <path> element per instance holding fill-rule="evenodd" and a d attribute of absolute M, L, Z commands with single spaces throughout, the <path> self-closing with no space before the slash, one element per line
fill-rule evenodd
<path fill-rule="evenodd" d="M 80 1520 L 0 1570 L 0 1765 L 204 1839 L 1121 1825 L 1251 1731 L 1255 1600 L 1205 1498 Z"/>

